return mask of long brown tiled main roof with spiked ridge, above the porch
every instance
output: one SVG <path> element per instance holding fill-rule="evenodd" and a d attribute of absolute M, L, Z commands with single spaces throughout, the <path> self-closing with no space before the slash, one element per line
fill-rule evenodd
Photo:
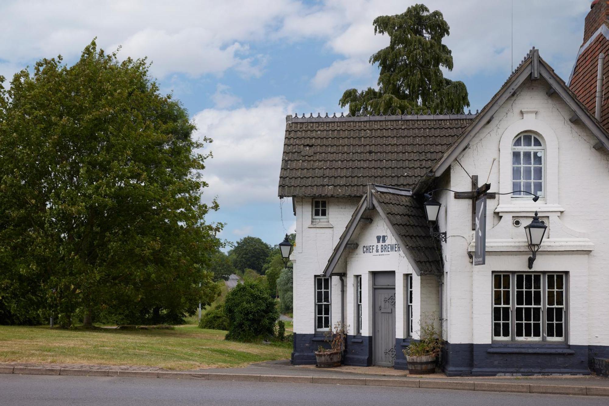
<path fill-rule="evenodd" d="M 360 197 L 410 188 L 476 114 L 286 118 L 279 196 Z"/>

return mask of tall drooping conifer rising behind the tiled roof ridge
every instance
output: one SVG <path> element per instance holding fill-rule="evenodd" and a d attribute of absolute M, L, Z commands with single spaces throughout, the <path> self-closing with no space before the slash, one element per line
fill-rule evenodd
<path fill-rule="evenodd" d="M 462 81 L 444 77 L 452 71 L 451 50 L 442 43 L 449 35 L 448 23 L 438 10 L 429 12 L 415 4 L 406 12 L 379 16 L 375 34 L 387 34 L 389 46 L 370 57 L 378 64 L 378 89 L 348 89 L 339 100 L 351 115 L 404 114 L 407 111 L 457 111 L 470 106 Z"/>

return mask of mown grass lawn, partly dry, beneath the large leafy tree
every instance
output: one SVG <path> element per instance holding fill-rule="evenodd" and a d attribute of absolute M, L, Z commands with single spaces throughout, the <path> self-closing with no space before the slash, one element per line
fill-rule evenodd
<path fill-rule="evenodd" d="M 287 359 L 289 343 L 225 341 L 225 331 L 195 325 L 173 330 L 63 330 L 0 326 L 0 362 L 160 366 L 193 370 Z"/>

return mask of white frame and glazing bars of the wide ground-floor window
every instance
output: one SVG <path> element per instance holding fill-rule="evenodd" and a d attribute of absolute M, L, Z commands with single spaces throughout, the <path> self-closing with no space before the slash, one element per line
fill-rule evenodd
<path fill-rule="evenodd" d="M 526 277 L 530 275 L 533 282 L 530 289 L 526 288 Z M 509 277 L 509 289 L 504 287 L 503 278 Z M 540 277 L 540 287 L 535 289 L 535 277 Z M 501 278 L 501 286 L 498 288 L 496 285 L 496 277 Z M 521 289 L 518 288 L 518 278 L 523 278 L 523 285 Z M 562 285 L 558 286 L 558 278 L 561 278 Z M 553 286 L 553 287 L 552 287 Z M 495 272 L 491 278 L 491 335 L 493 341 L 497 342 L 567 342 L 568 337 L 568 320 L 567 320 L 567 306 L 568 306 L 568 272 Z M 505 295 L 505 292 L 508 292 Z M 530 292 L 530 301 L 527 300 L 527 292 Z M 539 300 L 535 300 L 535 292 L 540 292 Z M 506 302 L 507 298 L 507 302 Z M 560 300 L 557 300 L 561 298 Z M 536 304 L 538 303 L 538 304 Z M 501 320 L 496 320 L 496 309 L 509 308 L 509 335 L 495 335 L 496 323 L 504 323 L 503 320 L 504 311 L 501 311 Z M 524 321 L 526 318 L 523 317 L 523 321 L 518 321 L 518 311 L 522 309 L 523 315 L 530 309 L 531 317 L 530 322 Z M 540 335 L 535 336 L 535 329 L 533 323 L 535 318 L 533 312 L 535 309 L 540 309 Z M 552 314 L 549 316 L 549 312 Z M 560 317 L 557 315 L 560 314 Z M 518 334 L 517 323 L 523 323 L 523 330 L 521 336 Z M 530 335 L 526 335 L 525 324 L 531 323 Z M 557 325 L 561 325 L 562 337 L 548 337 L 548 325 L 551 324 L 554 328 L 554 332 Z M 501 334 L 504 332 L 504 325 L 501 326 Z M 553 334 L 551 332 L 551 334 Z"/>

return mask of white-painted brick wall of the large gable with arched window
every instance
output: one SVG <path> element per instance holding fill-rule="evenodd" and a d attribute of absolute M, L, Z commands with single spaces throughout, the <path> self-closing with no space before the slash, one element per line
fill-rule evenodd
<path fill-rule="evenodd" d="M 449 235 L 446 338 L 451 343 L 490 342 L 491 272 L 528 271 L 524 225 L 540 210 L 549 227 L 532 271 L 569 272 L 569 343 L 609 345 L 609 215 L 605 208 L 609 155 L 594 150 L 596 138 L 582 123 L 571 123 L 572 111 L 557 94 L 548 97 L 547 89 L 543 79 L 525 81 L 459 156 L 465 170 L 479 176 L 480 184 L 490 173 L 491 191 L 503 191 L 512 188 L 505 176 L 511 170 L 505 152 L 517 131 L 538 131 L 547 138 L 549 150 L 556 150 L 554 157 L 552 151 L 546 153 L 546 198 L 537 203 L 511 196 L 487 201 L 485 266 L 474 267 L 466 255 L 468 249 L 473 250 L 471 201 L 454 199 L 452 193 L 443 195 Z M 443 179 L 448 176 L 453 190 L 471 190 L 470 178 L 456 162 Z M 523 225 L 514 227 L 514 218 Z"/>

